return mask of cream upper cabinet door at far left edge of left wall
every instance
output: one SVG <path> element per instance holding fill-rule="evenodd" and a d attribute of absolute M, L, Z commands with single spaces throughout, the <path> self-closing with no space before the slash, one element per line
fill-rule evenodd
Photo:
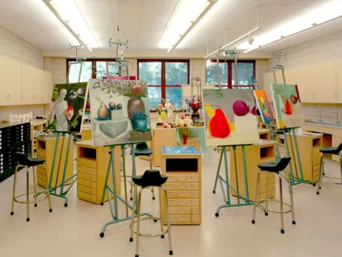
<path fill-rule="evenodd" d="M 21 104 L 21 62 L 0 56 L 0 106 Z"/>

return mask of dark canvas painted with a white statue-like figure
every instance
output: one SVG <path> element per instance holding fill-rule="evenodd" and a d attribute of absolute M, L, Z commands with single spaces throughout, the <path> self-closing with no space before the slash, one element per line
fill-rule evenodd
<path fill-rule="evenodd" d="M 52 131 L 81 131 L 87 83 L 56 84 L 50 103 L 48 129 Z"/>

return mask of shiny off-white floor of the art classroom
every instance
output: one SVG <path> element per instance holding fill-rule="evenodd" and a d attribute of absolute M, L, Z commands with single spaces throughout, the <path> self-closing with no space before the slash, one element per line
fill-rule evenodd
<path fill-rule="evenodd" d="M 140 159 L 137 163 L 140 173 L 148 166 Z M 341 256 L 341 186 L 323 183 L 320 196 L 313 186 L 294 186 L 297 224 L 292 225 L 287 214 L 281 234 L 280 218 L 273 213 L 266 217 L 258 211 L 252 225 L 252 206 L 224 208 L 219 218 L 214 217 L 223 203 L 219 189 L 212 193 L 216 167 L 217 153 L 209 148 L 202 167 L 202 225 L 172 226 L 175 256 Z M 329 171 L 337 173 L 338 165 L 327 161 Z M 18 192 L 24 190 L 24 175 L 21 171 Z M 75 185 L 67 208 L 61 198 L 53 197 L 53 213 L 48 213 L 44 201 L 38 208 L 31 206 L 31 221 L 26 222 L 23 204 L 16 204 L 14 216 L 9 215 L 12 183 L 13 177 L 0 183 L 0 256 L 134 256 L 129 221 L 108 226 L 105 237 L 99 237 L 103 223 L 110 220 L 108 203 L 97 206 L 78 200 Z M 152 212 L 158 208 L 148 192 L 142 206 Z M 120 213 L 124 210 L 120 205 Z M 158 229 L 155 224 L 148 226 Z M 168 256 L 167 247 L 166 238 L 142 238 L 140 256 Z"/>

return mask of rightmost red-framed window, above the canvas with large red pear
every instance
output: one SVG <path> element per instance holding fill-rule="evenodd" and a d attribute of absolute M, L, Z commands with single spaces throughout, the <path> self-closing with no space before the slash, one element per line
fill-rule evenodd
<path fill-rule="evenodd" d="M 254 74 L 255 74 L 255 61 L 243 60 L 237 63 L 239 71 L 239 86 L 242 89 L 253 88 Z M 235 78 L 235 64 L 234 61 L 224 60 L 219 61 L 219 71 L 221 76 L 221 85 L 228 86 L 229 89 L 236 85 Z M 207 64 L 207 84 L 218 85 L 217 78 L 217 62 L 212 60 Z"/>

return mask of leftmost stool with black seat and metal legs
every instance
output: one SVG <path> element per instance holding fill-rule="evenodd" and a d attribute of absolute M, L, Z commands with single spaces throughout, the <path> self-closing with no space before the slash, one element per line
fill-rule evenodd
<path fill-rule="evenodd" d="M 51 207 L 51 198 L 50 198 L 50 191 L 49 188 L 47 191 L 37 191 L 36 190 L 36 166 L 41 165 L 45 162 L 45 160 L 40 158 L 30 158 L 26 157 L 24 153 L 16 153 L 16 160 L 18 161 L 18 165 L 16 166 L 16 171 L 14 173 L 14 183 L 13 183 L 13 194 L 12 194 L 12 208 L 11 208 L 11 215 L 14 215 L 14 202 L 16 203 L 26 203 L 26 221 L 30 221 L 30 203 L 34 203 L 34 207 L 37 206 L 38 201 L 43 201 L 46 198 L 48 198 L 48 208 L 49 211 L 52 211 Z M 20 167 L 26 167 L 26 192 L 21 193 L 16 196 L 16 175 L 18 173 L 18 168 Z M 32 167 L 32 173 L 33 173 L 33 192 L 30 192 L 28 190 L 28 171 Z M 30 194 L 33 193 L 33 201 L 30 201 Z M 38 199 L 37 196 L 40 194 L 44 194 L 45 197 Z M 26 195 L 26 201 L 19 201 L 20 196 Z"/>

